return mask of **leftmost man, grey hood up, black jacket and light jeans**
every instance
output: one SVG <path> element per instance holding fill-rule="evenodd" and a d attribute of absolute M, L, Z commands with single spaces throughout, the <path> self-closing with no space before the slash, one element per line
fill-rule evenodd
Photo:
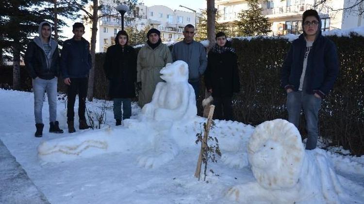
<path fill-rule="evenodd" d="M 51 39 L 50 23 L 42 22 L 38 28 L 39 36 L 28 45 L 25 53 L 25 66 L 33 79 L 35 137 L 43 135 L 42 107 L 44 93 L 47 91 L 50 106 L 50 132 L 63 133 L 57 119 L 57 76 L 59 75 L 58 44 Z"/>

